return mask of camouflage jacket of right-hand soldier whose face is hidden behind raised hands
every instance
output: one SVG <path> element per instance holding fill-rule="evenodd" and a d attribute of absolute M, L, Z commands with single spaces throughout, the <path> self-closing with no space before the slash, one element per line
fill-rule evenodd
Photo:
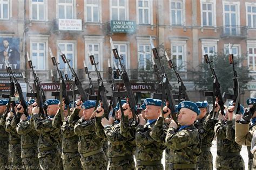
<path fill-rule="evenodd" d="M 232 121 L 224 122 L 219 120 L 214 128 L 217 137 L 217 153 L 240 152 L 241 145 L 235 142 L 235 130 L 232 128 Z"/>

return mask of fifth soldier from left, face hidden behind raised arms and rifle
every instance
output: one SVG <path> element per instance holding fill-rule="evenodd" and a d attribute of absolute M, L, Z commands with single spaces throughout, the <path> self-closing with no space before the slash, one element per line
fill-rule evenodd
<path fill-rule="evenodd" d="M 69 108 L 72 107 L 72 102 Z M 52 125 L 55 128 L 60 128 L 62 134 L 62 162 L 65 170 L 82 169 L 80 162 L 80 154 L 78 153 L 78 136 L 74 132 L 74 127 L 69 124 L 68 107 L 64 104 L 64 121 L 62 123 L 60 112 L 53 118 Z M 76 112 L 79 109 L 75 110 Z"/>

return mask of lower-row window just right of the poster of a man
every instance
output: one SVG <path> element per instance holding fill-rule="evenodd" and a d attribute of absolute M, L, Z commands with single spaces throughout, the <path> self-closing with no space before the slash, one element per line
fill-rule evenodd
<path fill-rule="evenodd" d="M 45 70 L 45 42 L 32 42 L 31 43 L 31 60 L 35 70 Z"/>

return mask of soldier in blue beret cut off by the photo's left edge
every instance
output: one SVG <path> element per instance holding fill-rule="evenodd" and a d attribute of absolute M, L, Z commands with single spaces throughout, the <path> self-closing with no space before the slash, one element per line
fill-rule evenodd
<path fill-rule="evenodd" d="M 0 169 L 5 169 L 8 166 L 9 134 L 5 131 L 1 120 L 7 103 L 8 100 L 0 100 Z"/>

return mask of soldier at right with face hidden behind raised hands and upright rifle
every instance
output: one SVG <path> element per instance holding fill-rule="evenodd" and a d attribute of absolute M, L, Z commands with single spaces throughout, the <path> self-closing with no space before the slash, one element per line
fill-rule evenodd
<path fill-rule="evenodd" d="M 241 109 L 240 109 L 241 110 Z M 241 145 L 235 143 L 235 131 L 232 127 L 234 105 L 230 103 L 225 117 L 219 114 L 219 122 L 215 124 L 217 137 L 217 169 L 245 169 L 244 160 L 240 155 Z"/>

